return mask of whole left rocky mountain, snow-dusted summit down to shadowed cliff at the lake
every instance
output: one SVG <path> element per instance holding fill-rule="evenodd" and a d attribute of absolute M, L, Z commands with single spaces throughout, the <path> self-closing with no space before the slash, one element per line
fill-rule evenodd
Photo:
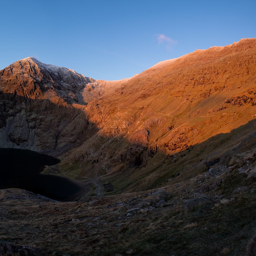
<path fill-rule="evenodd" d="M 33 57 L 0 71 L 0 146 L 52 150 L 87 129 L 83 112 L 102 93 L 98 83 Z"/>

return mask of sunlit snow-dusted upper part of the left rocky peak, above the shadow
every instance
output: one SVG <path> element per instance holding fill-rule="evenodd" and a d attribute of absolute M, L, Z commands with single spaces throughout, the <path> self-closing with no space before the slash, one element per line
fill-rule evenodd
<path fill-rule="evenodd" d="M 57 97 L 68 104 L 80 102 L 83 105 L 93 94 L 90 88 L 98 88 L 98 83 L 72 69 L 27 57 L 1 70 L 0 88 L 4 93 L 17 94 L 25 99 Z"/>

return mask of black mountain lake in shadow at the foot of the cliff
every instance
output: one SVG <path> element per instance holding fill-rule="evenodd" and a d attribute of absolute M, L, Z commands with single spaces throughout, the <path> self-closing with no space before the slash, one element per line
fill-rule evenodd
<path fill-rule="evenodd" d="M 70 201 L 83 187 L 68 178 L 40 174 L 60 160 L 31 150 L 0 148 L 0 189 L 21 188 L 58 201 Z"/>

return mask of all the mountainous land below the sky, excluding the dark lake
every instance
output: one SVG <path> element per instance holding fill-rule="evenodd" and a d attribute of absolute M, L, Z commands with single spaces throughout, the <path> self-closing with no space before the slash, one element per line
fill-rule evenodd
<path fill-rule="evenodd" d="M 0 190 L 0 255 L 256 255 L 255 74 L 255 38 L 118 81 L 1 70 L 0 147 L 58 158 L 44 174 L 83 193 Z"/>

